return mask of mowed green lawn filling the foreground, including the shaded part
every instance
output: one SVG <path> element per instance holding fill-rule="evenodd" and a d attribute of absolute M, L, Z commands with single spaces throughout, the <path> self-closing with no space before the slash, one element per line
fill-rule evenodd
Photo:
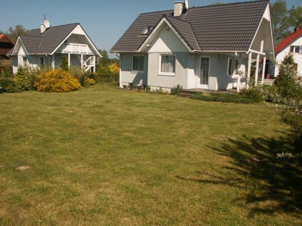
<path fill-rule="evenodd" d="M 0 225 L 302 224 L 301 164 L 276 158 L 289 128 L 264 105 L 93 86 L 0 108 Z"/>

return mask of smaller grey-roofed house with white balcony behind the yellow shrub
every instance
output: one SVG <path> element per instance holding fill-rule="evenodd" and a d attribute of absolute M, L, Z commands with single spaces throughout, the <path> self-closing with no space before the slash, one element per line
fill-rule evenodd
<path fill-rule="evenodd" d="M 41 24 L 41 29 L 19 36 L 7 55 L 13 56 L 14 73 L 19 66 L 56 68 L 64 55 L 68 58 L 68 66 L 95 71 L 95 59 L 102 57 L 80 24 L 50 26 L 48 21 Z"/>

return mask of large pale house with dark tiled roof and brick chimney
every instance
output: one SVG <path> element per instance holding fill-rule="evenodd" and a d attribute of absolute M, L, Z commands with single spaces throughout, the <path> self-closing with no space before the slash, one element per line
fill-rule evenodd
<path fill-rule="evenodd" d="M 259 60 L 274 57 L 269 1 L 177 1 L 174 10 L 140 14 L 110 52 L 120 53 L 120 87 L 239 90 L 241 72 L 250 76 L 256 60 L 263 78 Z"/>

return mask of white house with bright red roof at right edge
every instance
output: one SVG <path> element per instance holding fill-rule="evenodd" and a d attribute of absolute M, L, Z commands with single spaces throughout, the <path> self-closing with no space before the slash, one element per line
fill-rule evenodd
<path fill-rule="evenodd" d="M 293 54 L 298 75 L 302 76 L 302 29 L 296 28 L 293 34 L 276 45 L 275 54 L 279 63 L 288 53 Z M 278 76 L 278 67 L 271 67 L 269 73 L 271 76 Z"/>

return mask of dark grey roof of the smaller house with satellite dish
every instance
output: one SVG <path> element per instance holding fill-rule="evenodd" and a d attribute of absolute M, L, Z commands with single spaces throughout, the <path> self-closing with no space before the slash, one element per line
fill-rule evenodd
<path fill-rule="evenodd" d="M 29 54 L 49 54 L 58 48 L 76 26 L 78 23 L 51 26 L 42 34 L 40 29 L 34 29 L 20 38 Z"/>

